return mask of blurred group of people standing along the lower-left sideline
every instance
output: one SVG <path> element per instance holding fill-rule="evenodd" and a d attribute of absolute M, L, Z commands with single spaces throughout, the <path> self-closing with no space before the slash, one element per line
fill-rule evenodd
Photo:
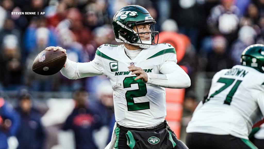
<path fill-rule="evenodd" d="M 102 149 L 115 124 L 110 81 L 97 87 L 97 98 L 85 89 L 72 98 L 37 101 L 27 89 L 17 91 L 15 104 L 0 95 L 0 149 Z"/>

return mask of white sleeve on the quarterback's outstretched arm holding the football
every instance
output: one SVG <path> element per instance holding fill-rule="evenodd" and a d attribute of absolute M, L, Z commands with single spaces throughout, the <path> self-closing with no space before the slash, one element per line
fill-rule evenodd
<path fill-rule="evenodd" d="M 67 58 L 66 67 L 60 70 L 63 76 L 69 79 L 79 79 L 103 75 L 100 65 L 93 61 L 87 63 L 76 63 Z"/>

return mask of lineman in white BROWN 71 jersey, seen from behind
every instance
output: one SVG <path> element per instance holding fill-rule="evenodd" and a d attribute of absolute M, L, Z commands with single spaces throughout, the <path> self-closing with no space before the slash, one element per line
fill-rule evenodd
<path fill-rule="evenodd" d="M 186 128 L 190 149 L 257 148 L 248 135 L 264 114 L 263 56 L 264 45 L 248 46 L 241 65 L 214 75 L 208 97 L 199 103 Z"/>

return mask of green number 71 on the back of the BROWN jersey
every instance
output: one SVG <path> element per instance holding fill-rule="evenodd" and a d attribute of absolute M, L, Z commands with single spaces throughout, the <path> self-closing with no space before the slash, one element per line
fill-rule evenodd
<path fill-rule="evenodd" d="M 224 83 L 225 85 L 223 87 L 221 87 L 219 90 L 215 91 L 214 94 L 212 94 L 209 99 L 211 97 L 214 97 L 215 95 L 219 94 L 221 91 L 225 90 L 227 87 L 229 87 L 230 85 L 233 84 L 233 82 L 235 81 L 235 79 L 229 79 L 229 78 L 219 78 L 219 80 L 217 82 L 220 83 Z M 232 87 L 232 89 L 230 90 L 230 92 L 227 94 L 227 97 L 225 98 L 224 104 L 228 104 L 230 105 L 233 95 L 235 94 L 235 91 L 237 91 L 237 88 L 239 86 L 239 84 L 241 83 L 241 80 L 237 80 L 235 82 L 235 85 Z M 209 99 L 207 99 L 207 101 L 209 101 Z"/>

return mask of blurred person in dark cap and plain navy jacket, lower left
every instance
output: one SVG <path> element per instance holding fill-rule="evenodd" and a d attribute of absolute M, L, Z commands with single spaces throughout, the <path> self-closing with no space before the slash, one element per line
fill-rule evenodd
<path fill-rule="evenodd" d="M 27 90 L 21 90 L 16 111 L 21 117 L 20 128 L 17 132 L 17 149 L 44 149 L 45 131 L 40 121 L 41 115 L 33 107 L 31 95 Z"/>

